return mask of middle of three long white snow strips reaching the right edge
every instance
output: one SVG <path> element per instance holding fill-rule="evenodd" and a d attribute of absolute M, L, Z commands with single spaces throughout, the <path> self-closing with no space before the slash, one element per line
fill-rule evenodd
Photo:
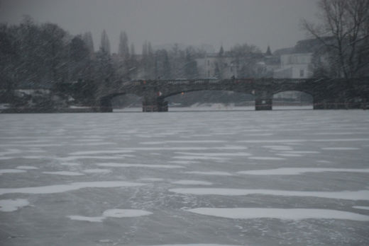
<path fill-rule="evenodd" d="M 369 190 L 342 191 L 342 192 L 299 192 L 278 189 L 226 189 L 226 188 L 177 188 L 169 189 L 170 192 L 196 195 L 221 195 L 221 196 L 247 196 L 260 194 L 282 197 L 320 197 L 327 199 L 347 199 L 369 201 Z"/>

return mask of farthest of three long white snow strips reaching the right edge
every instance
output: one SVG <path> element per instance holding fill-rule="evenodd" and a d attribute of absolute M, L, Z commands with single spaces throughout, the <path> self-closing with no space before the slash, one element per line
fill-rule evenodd
<path fill-rule="evenodd" d="M 244 175 L 301 175 L 304 172 L 369 172 L 369 168 L 276 168 L 237 173 Z"/>

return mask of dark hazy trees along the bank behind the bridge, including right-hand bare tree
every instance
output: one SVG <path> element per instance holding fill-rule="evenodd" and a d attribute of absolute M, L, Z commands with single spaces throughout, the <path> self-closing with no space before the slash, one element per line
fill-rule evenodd
<path fill-rule="evenodd" d="M 320 24 L 302 21 L 303 28 L 319 42 L 313 50 L 315 76 L 347 81 L 368 76 L 369 1 L 319 0 L 318 4 Z M 38 24 L 29 16 L 18 25 L 0 23 L 0 89 L 6 91 L 6 96 L 16 88 L 51 88 L 62 94 L 62 84 L 75 83 L 77 96 L 92 100 L 93 91 L 101 83 L 199 77 L 196 59 L 206 56 L 202 49 L 174 45 L 154 50 L 145 41 L 141 54 L 136 54 L 125 32 L 119 38 L 118 52 L 111 54 L 105 30 L 95 51 L 90 32 L 70 35 L 57 24 Z M 221 47 L 216 77 L 222 77 L 225 57 L 232 57 L 239 77 L 255 77 L 263 53 L 248 44 L 235 45 L 226 52 Z"/>

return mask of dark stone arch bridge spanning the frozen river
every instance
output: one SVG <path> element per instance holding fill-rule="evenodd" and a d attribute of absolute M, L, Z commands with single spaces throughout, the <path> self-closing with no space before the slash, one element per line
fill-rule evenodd
<path fill-rule="evenodd" d="M 242 78 L 242 79 L 180 79 L 114 82 L 97 90 L 98 112 L 112 112 L 111 99 L 118 95 L 143 97 L 143 112 L 166 112 L 165 98 L 196 90 L 231 90 L 255 96 L 255 110 L 272 110 L 272 96 L 296 90 L 312 95 L 314 109 L 366 108 L 369 102 L 369 78 Z"/>

